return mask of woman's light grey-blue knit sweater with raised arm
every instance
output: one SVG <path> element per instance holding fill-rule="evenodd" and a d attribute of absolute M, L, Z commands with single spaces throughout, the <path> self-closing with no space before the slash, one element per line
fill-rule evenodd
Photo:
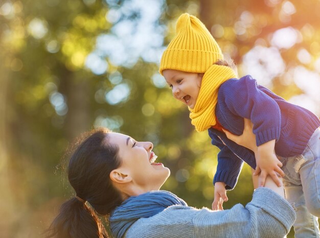
<path fill-rule="evenodd" d="M 173 205 L 150 218 L 141 218 L 126 238 L 283 238 L 295 220 L 290 204 L 268 188 L 258 188 L 245 207 L 212 211 Z"/>

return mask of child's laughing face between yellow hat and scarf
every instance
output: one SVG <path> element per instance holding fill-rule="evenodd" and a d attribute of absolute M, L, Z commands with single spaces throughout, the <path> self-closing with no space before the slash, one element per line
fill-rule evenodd
<path fill-rule="evenodd" d="M 163 75 L 172 90 L 173 97 L 194 109 L 203 74 L 164 70 Z"/>

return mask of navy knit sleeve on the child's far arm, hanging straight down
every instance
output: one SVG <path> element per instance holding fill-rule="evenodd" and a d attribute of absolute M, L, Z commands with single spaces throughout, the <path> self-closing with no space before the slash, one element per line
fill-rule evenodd
<path fill-rule="evenodd" d="M 221 140 L 215 135 L 212 144 L 219 147 L 217 171 L 213 179 L 216 182 L 224 182 L 227 190 L 234 189 L 241 172 L 243 160 L 236 156 Z"/>

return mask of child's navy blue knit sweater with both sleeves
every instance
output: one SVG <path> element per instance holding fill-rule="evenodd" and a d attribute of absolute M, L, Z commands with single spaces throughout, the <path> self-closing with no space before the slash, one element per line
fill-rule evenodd
<path fill-rule="evenodd" d="M 249 75 L 221 84 L 216 117 L 225 129 L 235 135 L 243 132 L 243 118 L 250 119 L 254 124 L 257 146 L 275 139 L 276 154 L 281 157 L 301 155 L 313 132 L 320 126 L 316 115 L 258 85 Z M 213 183 L 224 182 L 226 189 L 233 189 L 243 161 L 256 168 L 255 155 L 252 150 L 227 139 L 217 129 L 208 131 L 212 144 L 220 148 Z"/>

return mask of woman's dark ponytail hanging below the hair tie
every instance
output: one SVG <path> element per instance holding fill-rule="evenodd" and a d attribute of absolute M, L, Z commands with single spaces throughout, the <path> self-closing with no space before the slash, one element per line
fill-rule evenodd
<path fill-rule="evenodd" d="M 72 198 L 61 205 L 60 212 L 47 233 L 47 238 L 108 237 L 96 212 L 76 198 Z"/>

